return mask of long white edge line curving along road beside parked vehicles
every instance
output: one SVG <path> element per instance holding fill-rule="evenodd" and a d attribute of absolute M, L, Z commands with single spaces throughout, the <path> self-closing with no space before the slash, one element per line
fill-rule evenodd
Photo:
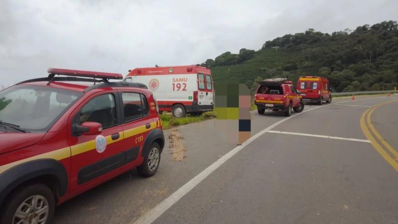
<path fill-rule="evenodd" d="M 354 101 L 360 101 L 360 100 L 369 100 L 369 99 L 380 99 L 383 97 L 375 97 L 375 98 L 365 98 L 365 99 L 358 99 Z M 294 114 L 290 117 L 286 117 L 271 126 L 265 128 L 264 130 L 258 132 L 257 134 L 253 135 L 250 137 L 248 140 L 246 140 L 242 145 L 239 145 L 223 155 L 221 158 L 219 158 L 217 161 L 215 161 L 213 164 L 211 164 L 209 167 L 204 169 L 202 172 L 200 172 L 196 177 L 192 178 L 190 181 L 188 181 L 186 184 L 184 184 L 182 187 L 180 187 L 177 191 L 175 191 L 173 194 L 171 194 L 169 197 L 165 198 L 162 202 L 160 202 L 158 205 L 156 205 L 154 208 L 152 208 L 150 211 L 148 211 L 145 215 L 141 216 L 138 220 L 136 220 L 133 224 L 151 224 L 153 223 L 156 219 L 158 219 L 163 213 L 165 213 L 170 207 L 172 207 L 176 202 L 178 202 L 182 197 L 184 197 L 188 192 L 190 192 L 194 187 L 196 187 L 204 178 L 206 178 L 208 175 L 210 175 L 214 170 L 216 170 L 218 167 L 220 167 L 223 163 L 225 163 L 229 158 L 234 156 L 236 153 L 238 153 L 240 150 L 242 150 L 244 147 L 246 147 L 248 144 L 250 144 L 252 141 L 254 141 L 256 138 L 260 137 L 261 135 L 267 133 L 270 131 L 272 128 L 276 127 L 277 125 L 285 122 L 286 120 L 289 120 L 299 114 L 309 112 L 315 109 L 327 107 L 330 105 L 334 104 L 341 104 L 341 103 L 346 103 L 346 102 L 352 102 L 353 100 L 348 100 L 348 101 L 342 101 L 339 103 L 333 103 L 333 104 L 327 104 L 323 106 L 319 106 L 316 108 L 311 108 L 309 110 L 305 110 L 301 113 Z M 132 223 L 132 222 L 131 222 Z"/>

